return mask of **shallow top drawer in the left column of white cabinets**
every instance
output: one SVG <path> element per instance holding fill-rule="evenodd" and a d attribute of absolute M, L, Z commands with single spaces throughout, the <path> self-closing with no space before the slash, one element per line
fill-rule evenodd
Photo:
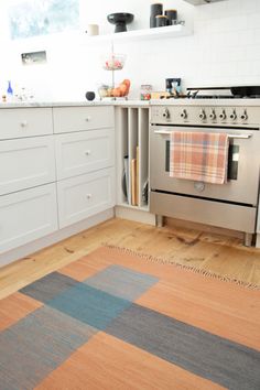
<path fill-rule="evenodd" d="M 1 109 L 0 129 L 0 140 L 52 134 L 52 108 Z"/>

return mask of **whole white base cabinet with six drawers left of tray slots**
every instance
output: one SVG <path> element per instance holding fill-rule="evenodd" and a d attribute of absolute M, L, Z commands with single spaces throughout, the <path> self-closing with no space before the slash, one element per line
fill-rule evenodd
<path fill-rule="evenodd" d="M 0 110 L 0 263 L 111 218 L 113 106 Z"/>

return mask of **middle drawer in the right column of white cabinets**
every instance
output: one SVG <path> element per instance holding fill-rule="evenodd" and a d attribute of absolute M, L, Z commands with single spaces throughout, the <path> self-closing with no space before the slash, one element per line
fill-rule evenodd
<path fill-rule="evenodd" d="M 115 164 L 113 129 L 56 136 L 57 178 L 101 170 Z"/>

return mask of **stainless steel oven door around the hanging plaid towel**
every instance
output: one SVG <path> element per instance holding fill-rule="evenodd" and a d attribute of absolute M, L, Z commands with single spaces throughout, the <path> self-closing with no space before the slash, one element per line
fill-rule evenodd
<path fill-rule="evenodd" d="M 202 128 L 151 126 L 150 187 L 174 194 L 257 205 L 259 186 L 260 131 L 248 129 L 208 129 L 229 134 L 228 182 L 208 184 L 170 177 L 170 136 L 173 131 L 202 132 Z"/>

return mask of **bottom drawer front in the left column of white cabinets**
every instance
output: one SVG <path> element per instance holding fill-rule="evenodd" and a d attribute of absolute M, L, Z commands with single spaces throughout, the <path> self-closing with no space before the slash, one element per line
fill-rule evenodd
<path fill-rule="evenodd" d="M 55 184 L 0 196 L 0 253 L 55 230 Z"/>

